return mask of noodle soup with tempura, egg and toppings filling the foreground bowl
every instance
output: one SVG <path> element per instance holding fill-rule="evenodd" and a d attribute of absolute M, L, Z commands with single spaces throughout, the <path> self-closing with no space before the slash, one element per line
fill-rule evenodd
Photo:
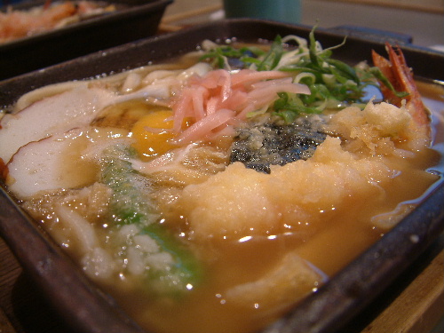
<path fill-rule="evenodd" d="M 388 50 L 349 67 L 313 34 L 206 41 L 41 88 L 2 119 L 6 185 L 142 327 L 260 329 L 439 178 L 429 115 Z M 364 100 L 377 81 L 395 105 Z"/>

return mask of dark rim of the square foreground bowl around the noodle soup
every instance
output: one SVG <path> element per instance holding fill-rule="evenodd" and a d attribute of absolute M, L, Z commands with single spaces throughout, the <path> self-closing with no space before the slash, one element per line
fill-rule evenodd
<path fill-rule="evenodd" d="M 159 62 L 195 49 L 203 39 L 243 41 L 276 35 L 308 37 L 311 28 L 263 20 L 222 20 L 173 34 L 67 61 L 44 71 L 0 82 L 0 105 L 13 103 L 21 94 L 49 83 L 82 79 Z M 323 47 L 339 44 L 344 35 L 316 30 Z M 385 38 L 349 36 L 335 57 L 350 63 L 369 59 L 374 49 L 385 54 Z M 444 54 L 411 44 L 402 45 L 408 64 L 427 80 L 444 80 Z M 398 226 L 346 266 L 318 292 L 263 333 L 337 332 L 384 291 L 435 241 L 444 229 L 444 184 L 441 181 Z M 16 205 L 6 191 L 0 195 L 0 234 L 19 258 L 60 317 L 77 332 L 135 333 L 142 330 L 113 299 L 88 281 L 49 237 Z"/>

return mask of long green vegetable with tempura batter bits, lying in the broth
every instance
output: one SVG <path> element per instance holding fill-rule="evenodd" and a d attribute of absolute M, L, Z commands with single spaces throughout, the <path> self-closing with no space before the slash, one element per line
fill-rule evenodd
<path fill-rule="evenodd" d="M 160 295 L 178 296 L 200 281 L 201 268 L 190 250 L 170 234 L 155 214 L 149 199 L 147 179 L 132 169 L 130 158 L 135 155 L 128 147 L 116 146 L 105 152 L 101 182 L 113 190 L 109 203 L 109 220 L 115 227 L 139 226 L 139 234 L 150 236 L 172 260 L 161 268 L 147 271 L 149 289 Z"/>

